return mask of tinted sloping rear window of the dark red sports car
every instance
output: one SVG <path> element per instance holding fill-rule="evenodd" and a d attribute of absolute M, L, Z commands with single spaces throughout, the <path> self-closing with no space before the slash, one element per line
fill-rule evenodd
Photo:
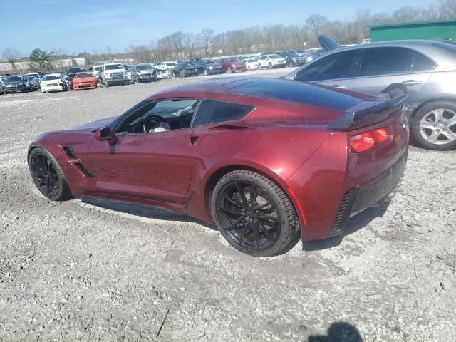
<path fill-rule="evenodd" d="M 317 105 L 324 108 L 346 110 L 358 103 L 361 99 L 337 91 L 291 80 L 264 79 L 244 83 L 229 90 L 229 93 L 253 95 L 259 98 L 271 98 L 306 105 Z"/>

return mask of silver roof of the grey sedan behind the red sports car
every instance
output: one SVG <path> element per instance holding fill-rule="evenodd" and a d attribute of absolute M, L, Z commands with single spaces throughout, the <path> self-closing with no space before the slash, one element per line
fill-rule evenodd
<path fill-rule="evenodd" d="M 448 44 L 448 45 L 446 45 Z M 446 48 L 445 48 L 446 46 Z M 345 46 L 336 50 L 330 51 L 324 56 L 328 56 L 332 53 L 338 53 L 340 51 L 353 51 L 365 48 L 383 48 L 383 47 L 398 47 L 398 48 L 410 48 L 412 50 L 423 53 L 423 55 L 431 58 L 438 65 L 440 71 L 455 70 L 456 69 L 456 46 L 452 43 L 445 41 L 432 41 L 423 39 L 410 39 L 402 41 L 379 41 L 375 43 L 358 44 L 354 46 Z M 452 52 L 450 49 L 453 49 Z"/>

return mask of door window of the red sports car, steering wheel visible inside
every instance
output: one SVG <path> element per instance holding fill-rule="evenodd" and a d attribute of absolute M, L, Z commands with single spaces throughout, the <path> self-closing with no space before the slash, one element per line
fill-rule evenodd
<path fill-rule="evenodd" d="M 159 133 L 189 128 L 199 99 L 153 101 L 143 105 L 115 129 L 116 134 Z"/>

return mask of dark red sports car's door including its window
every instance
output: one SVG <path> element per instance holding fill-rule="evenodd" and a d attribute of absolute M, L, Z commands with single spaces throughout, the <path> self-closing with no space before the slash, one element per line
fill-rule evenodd
<path fill-rule="evenodd" d="M 188 98 L 149 102 L 115 128 L 115 144 L 93 140 L 88 157 L 95 190 L 132 199 L 182 202 L 192 174 L 190 122 L 198 103 L 199 99 Z M 157 123 L 162 129 L 152 128 Z"/>

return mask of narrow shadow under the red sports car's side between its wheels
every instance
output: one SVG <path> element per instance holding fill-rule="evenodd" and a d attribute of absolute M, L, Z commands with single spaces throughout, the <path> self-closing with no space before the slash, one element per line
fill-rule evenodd
<path fill-rule="evenodd" d="M 115 201 L 111 199 L 98 199 L 98 198 L 80 198 L 81 202 L 94 205 L 104 209 L 113 210 L 115 212 L 123 212 L 125 214 L 131 214 L 134 216 L 145 217 L 147 219 L 162 219 L 165 221 L 185 221 L 194 222 L 201 224 L 209 229 L 217 230 L 214 224 L 208 224 L 207 222 L 199 221 L 180 212 L 175 212 L 172 209 L 155 207 L 152 205 L 144 204 L 129 204 L 121 201 Z"/>

